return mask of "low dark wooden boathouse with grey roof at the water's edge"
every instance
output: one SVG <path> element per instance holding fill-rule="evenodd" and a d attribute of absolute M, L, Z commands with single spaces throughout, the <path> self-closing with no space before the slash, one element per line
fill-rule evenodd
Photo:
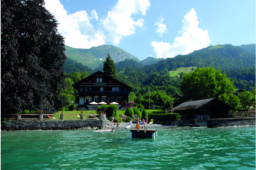
<path fill-rule="evenodd" d="M 196 118 L 196 121 L 207 119 L 228 118 L 228 112 L 234 109 L 217 98 L 188 101 L 174 107 L 174 113 L 179 113 L 181 119 Z"/>

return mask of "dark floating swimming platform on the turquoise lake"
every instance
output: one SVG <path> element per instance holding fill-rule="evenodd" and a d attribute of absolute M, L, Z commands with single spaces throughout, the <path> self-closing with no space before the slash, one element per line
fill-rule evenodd
<path fill-rule="evenodd" d="M 131 129 L 130 130 L 130 138 L 151 138 L 154 139 L 157 136 L 157 130 L 155 129 Z"/>

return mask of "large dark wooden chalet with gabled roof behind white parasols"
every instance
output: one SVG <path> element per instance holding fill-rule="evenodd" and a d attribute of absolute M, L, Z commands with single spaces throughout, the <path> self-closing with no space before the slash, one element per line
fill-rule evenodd
<path fill-rule="evenodd" d="M 116 102 L 117 107 L 121 109 L 128 102 L 128 96 L 132 87 L 119 82 L 118 80 L 97 71 L 88 77 L 72 84 L 78 91 L 76 97 L 76 107 L 78 110 L 94 110 L 100 104 L 89 104 L 91 102 L 105 102 L 107 104 Z M 125 108 L 125 107 L 124 107 Z"/>

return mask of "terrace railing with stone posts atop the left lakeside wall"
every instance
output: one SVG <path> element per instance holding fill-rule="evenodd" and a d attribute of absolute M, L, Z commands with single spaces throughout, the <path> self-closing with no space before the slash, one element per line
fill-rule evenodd
<path fill-rule="evenodd" d="M 69 116 L 74 115 L 74 116 Z M 92 114 L 1 114 L 1 119 L 5 118 L 6 120 L 72 120 L 72 119 L 87 119 Z M 94 119 L 99 120 L 99 114 L 93 114 Z M 49 118 L 49 117 L 51 118 Z M 66 118 L 65 118 L 66 116 Z"/>

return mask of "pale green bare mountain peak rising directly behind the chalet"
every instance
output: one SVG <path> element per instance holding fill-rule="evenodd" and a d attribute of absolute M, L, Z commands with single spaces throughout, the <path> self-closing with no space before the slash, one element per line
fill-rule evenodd
<path fill-rule="evenodd" d="M 134 61 L 140 62 L 137 57 L 112 45 L 102 45 L 91 47 L 90 49 L 77 49 L 69 46 L 65 48 L 67 58 L 88 66 L 91 69 L 102 67 L 103 61 L 108 54 L 111 55 L 111 59 L 115 62 L 124 61 L 125 59 L 133 59 Z"/>

